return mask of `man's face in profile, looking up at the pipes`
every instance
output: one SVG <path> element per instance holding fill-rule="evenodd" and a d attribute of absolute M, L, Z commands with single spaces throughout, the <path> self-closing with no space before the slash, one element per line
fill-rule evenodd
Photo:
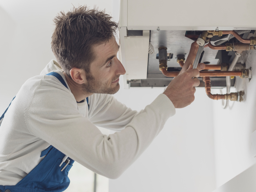
<path fill-rule="evenodd" d="M 114 37 L 93 47 L 96 59 L 91 63 L 91 74 L 86 74 L 87 83 L 82 84 L 84 92 L 115 94 L 119 90 L 119 76 L 125 69 L 116 57 L 118 49 Z"/>

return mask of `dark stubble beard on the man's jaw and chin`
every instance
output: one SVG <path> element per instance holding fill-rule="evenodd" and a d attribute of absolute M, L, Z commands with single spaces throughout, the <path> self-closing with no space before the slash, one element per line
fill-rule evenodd
<path fill-rule="evenodd" d="M 115 94 L 118 92 L 119 82 L 115 83 L 113 87 L 108 87 L 108 83 L 97 81 L 91 74 L 86 74 L 87 84 L 82 84 L 83 92 L 100 93 L 100 94 Z M 119 76 L 115 76 L 112 80 L 115 81 Z M 113 82 L 112 81 L 112 82 Z"/>

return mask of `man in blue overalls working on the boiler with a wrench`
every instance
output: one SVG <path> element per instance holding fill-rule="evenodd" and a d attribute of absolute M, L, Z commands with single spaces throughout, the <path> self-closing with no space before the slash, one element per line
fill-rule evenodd
<path fill-rule="evenodd" d="M 194 100 L 199 80 L 193 43 L 180 74 L 150 105 L 132 111 L 111 94 L 125 69 L 117 59 L 118 24 L 97 9 L 74 8 L 55 18 L 50 61 L 28 79 L 0 129 L 0 192 L 64 191 L 74 161 L 119 177 L 149 146 L 166 120 Z M 51 73 L 50 73 L 51 72 Z M 88 102 L 88 103 L 87 103 Z M 96 126 L 116 130 L 109 136 Z"/>

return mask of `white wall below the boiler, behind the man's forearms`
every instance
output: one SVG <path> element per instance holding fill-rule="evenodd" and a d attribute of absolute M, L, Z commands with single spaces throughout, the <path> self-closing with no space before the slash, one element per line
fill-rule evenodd
<path fill-rule="evenodd" d="M 135 110 L 162 89 L 120 90 L 116 98 Z M 109 181 L 109 192 L 211 192 L 215 189 L 212 100 L 197 88 L 195 101 L 176 115 L 124 174 Z"/>

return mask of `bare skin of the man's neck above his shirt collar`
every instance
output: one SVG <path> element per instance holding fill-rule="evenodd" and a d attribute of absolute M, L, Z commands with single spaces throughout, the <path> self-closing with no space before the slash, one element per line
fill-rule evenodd
<path fill-rule="evenodd" d="M 84 92 L 81 84 L 76 83 L 72 78 L 70 78 L 64 72 L 63 72 L 63 74 L 64 74 L 66 81 L 68 83 L 68 86 L 77 102 L 80 102 L 80 101 L 84 100 L 86 97 L 89 97 L 93 94 L 90 92 Z"/>

